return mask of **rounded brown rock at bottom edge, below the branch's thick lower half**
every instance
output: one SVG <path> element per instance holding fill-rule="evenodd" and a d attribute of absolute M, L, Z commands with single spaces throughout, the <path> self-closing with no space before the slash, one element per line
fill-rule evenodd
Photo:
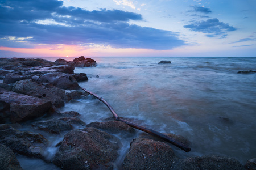
<path fill-rule="evenodd" d="M 133 139 L 123 169 L 171 169 L 177 158 L 172 148 L 151 139 Z"/>

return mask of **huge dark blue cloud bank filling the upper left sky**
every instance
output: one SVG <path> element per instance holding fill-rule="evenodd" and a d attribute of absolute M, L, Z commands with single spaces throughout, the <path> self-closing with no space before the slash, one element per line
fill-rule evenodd
<path fill-rule="evenodd" d="M 121 10 L 64 7 L 63 1 L 57 0 L 0 0 L 0 46 L 6 46 L 3 41 L 13 41 L 7 40 L 10 36 L 33 37 L 26 41 L 34 44 L 104 44 L 156 50 L 185 44 L 171 31 L 140 27 L 127 23 L 129 20 L 142 20 L 142 16 Z"/>

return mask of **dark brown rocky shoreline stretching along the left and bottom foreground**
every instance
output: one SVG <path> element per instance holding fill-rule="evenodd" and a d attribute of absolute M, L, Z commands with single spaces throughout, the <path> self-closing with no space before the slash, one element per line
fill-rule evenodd
<path fill-rule="evenodd" d="M 248 160 L 245 165 L 217 155 L 181 159 L 169 143 L 145 133 L 137 137 L 135 130 L 123 122 L 110 119 L 86 124 L 77 112 L 59 112 L 65 103 L 88 96 L 77 83 L 87 81 L 87 75 L 75 74 L 75 67 L 96 65 L 93 59 L 82 56 L 73 61 L 57 59 L 55 62 L 0 58 L 2 169 L 22 169 L 15 154 L 40 158 L 61 169 L 256 169 L 256 159 Z M 40 117 L 47 118 L 42 121 Z M 24 122 L 42 133 L 19 130 Z M 51 160 L 44 153 L 51 139 L 44 137 L 44 133 L 64 134 Z M 114 165 L 122 149 L 122 142 L 115 134 L 134 137 L 122 167 Z M 190 145 L 184 137 L 167 135 Z"/>

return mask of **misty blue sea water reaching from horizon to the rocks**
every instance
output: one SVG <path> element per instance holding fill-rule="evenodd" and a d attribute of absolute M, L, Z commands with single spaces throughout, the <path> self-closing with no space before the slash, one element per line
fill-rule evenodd
<path fill-rule="evenodd" d="M 38 58 L 55 61 L 61 57 Z M 75 57 L 62 58 L 72 61 Z M 256 73 L 237 73 L 256 70 L 256 57 L 90 58 L 96 67 L 75 68 L 75 73 L 86 73 L 89 78 L 79 85 L 105 99 L 119 117 L 188 139 L 190 152 L 171 145 L 178 158 L 220 155 L 242 164 L 256 158 Z M 171 64 L 158 64 L 162 60 Z M 66 103 L 60 111 L 79 112 L 86 124 L 112 117 L 106 105 L 90 95 Z M 137 130 L 137 136 L 140 133 Z M 52 139 L 46 151 L 49 160 L 63 135 L 46 136 Z M 119 169 L 133 138 L 116 136 L 123 144 L 116 163 Z M 39 167 L 40 160 L 18 157 L 24 169 L 31 162 Z M 49 166 L 56 168 L 40 164 L 41 169 Z"/>

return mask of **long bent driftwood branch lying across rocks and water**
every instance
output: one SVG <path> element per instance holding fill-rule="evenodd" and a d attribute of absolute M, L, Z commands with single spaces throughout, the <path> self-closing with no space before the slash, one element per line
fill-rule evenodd
<path fill-rule="evenodd" d="M 144 126 L 140 126 L 137 124 L 134 124 L 133 122 L 129 122 L 126 120 L 123 120 L 122 118 L 119 118 L 119 116 L 117 115 L 117 113 L 115 113 L 114 109 L 111 107 L 111 105 L 109 105 L 108 102 L 106 102 L 106 100 L 102 99 L 101 97 L 97 96 L 96 94 L 94 94 L 93 92 L 90 92 L 88 90 L 86 90 L 85 88 L 82 88 L 82 90 L 88 92 L 89 94 L 93 95 L 94 97 L 96 97 L 98 100 L 102 101 L 102 103 L 104 103 L 110 110 L 110 112 L 113 114 L 113 116 L 115 117 L 116 121 L 121 121 L 124 122 L 125 124 L 135 128 L 135 129 L 139 129 L 142 130 L 148 134 L 154 135 L 155 137 L 161 138 L 164 141 L 170 142 L 172 145 L 175 145 L 176 147 L 179 147 L 181 150 L 184 150 L 185 152 L 189 152 L 191 150 L 191 148 L 189 148 L 188 146 L 184 145 L 184 143 L 177 141 L 174 138 L 171 138 L 165 134 L 160 133 L 159 131 L 155 131 L 153 129 L 150 128 L 146 128 Z"/>

